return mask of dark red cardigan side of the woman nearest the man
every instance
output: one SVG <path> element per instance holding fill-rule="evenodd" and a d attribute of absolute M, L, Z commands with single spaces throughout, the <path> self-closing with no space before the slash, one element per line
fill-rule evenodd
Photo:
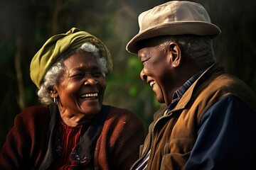
<path fill-rule="evenodd" d="M 130 169 L 139 158 L 139 146 L 143 144 L 144 137 L 144 125 L 136 115 L 121 108 L 112 108 L 99 139 L 99 169 Z"/>

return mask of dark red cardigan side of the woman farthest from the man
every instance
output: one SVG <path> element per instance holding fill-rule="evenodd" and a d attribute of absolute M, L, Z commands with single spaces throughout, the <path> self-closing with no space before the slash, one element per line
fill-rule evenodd
<path fill-rule="evenodd" d="M 14 126 L 1 148 L 1 170 L 34 169 L 38 164 L 46 137 L 46 109 L 42 106 L 26 108 L 16 115 Z"/>

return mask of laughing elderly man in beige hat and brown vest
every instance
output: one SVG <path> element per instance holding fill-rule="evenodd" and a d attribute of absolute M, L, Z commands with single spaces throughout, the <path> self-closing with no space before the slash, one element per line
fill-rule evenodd
<path fill-rule="evenodd" d="M 252 169 L 256 95 L 215 61 L 220 29 L 203 6 L 169 1 L 139 15 L 127 44 L 159 103 L 132 169 Z"/>

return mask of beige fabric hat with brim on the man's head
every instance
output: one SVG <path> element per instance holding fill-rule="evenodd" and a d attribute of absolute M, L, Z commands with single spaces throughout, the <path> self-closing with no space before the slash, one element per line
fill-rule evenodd
<path fill-rule="evenodd" d="M 201 4 L 192 1 L 169 1 L 139 15 L 139 33 L 127 43 L 127 51 L 137 54 L 140 40 L 163 35 L 207 35 L 221 33 L 210 22 L 210 16 Z"/>

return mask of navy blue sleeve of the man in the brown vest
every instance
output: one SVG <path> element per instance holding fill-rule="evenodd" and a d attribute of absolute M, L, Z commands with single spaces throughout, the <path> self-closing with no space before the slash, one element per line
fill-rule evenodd
<path fill-rule="evenodd" d="M 235 96 L 215 103 L 201 119 L 185 169 L 251 169 L 256 159 L 256 113 Z"/>

